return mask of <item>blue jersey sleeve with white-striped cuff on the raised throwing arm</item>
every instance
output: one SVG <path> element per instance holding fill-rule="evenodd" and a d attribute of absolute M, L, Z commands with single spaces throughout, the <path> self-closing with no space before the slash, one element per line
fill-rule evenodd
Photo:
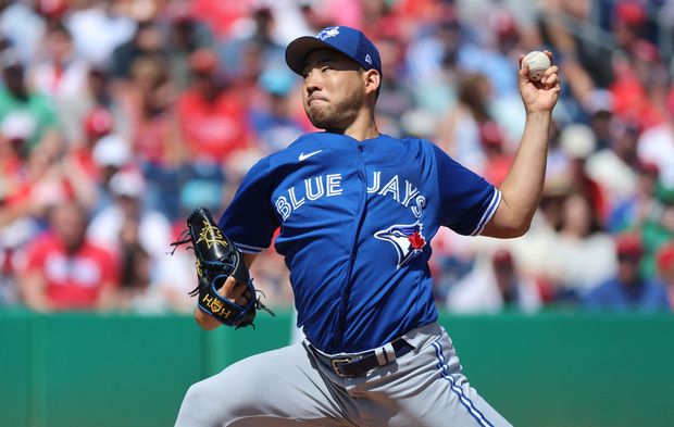
<path fill-rule="evenodd" d="M 440 224 L 460 235 L 476 236 L 491 219 L 501 192 L 433 145 L 440 197 Z"/>

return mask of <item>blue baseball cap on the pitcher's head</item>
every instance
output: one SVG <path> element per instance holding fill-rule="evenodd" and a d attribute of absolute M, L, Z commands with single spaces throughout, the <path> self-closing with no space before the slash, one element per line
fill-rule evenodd
<path fill-rule="evenodd" d="M 302 75 L 307 55 L 316 49 L 332 49 L 344 53 L 365 70 L 376 70 L 382 75 L 379 51 L 365 35 L 351 27 L 326 27 L 315 36 L 297 38 L 286 48 L 286 63 Z"/>

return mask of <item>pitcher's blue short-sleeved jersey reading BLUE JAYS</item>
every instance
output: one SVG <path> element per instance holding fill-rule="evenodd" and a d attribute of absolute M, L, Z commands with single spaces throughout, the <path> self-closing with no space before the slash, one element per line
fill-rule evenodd
<path fill-rule="evenodd" d="M 437 319 L 430 239 L 479 234 L 500 198 L 427 140 L 315 133 L 258 162 L 220 225 L 247 253 L 280 227 L 298 326 L 324 352 L 359 352 Z"/>

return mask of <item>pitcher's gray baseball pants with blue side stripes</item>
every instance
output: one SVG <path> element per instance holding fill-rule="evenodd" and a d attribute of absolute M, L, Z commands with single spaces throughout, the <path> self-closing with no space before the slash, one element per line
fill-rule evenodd
<path fill-rule="evenodd" d="M 402 337 L 413 350 L 342 377 L 308 342 L 257 354 L 189 388 L 176 427 L 510 426 L 461 374 L 437 323 Z"/>

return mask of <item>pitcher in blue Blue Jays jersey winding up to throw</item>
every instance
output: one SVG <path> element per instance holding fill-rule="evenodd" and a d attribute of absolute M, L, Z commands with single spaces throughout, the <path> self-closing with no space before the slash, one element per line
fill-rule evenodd
<path fill-rule="evenodd" d="M 200 262 L 195 316 L 207 329 L 252 323 L 263 305 L 248 275 L 232 272 L 250 266 L 280 228 L 275 250 L 307 339 L 195 384 L 176 426 L 509 426 L 471 387 L 437 323 L 429 242 L 440 226 L 497 238 L 526 233 L 544 183 L 558 67 L 534 81 L 522 65 L 526 126 L 496 188 L 427 140 L 377 130 L 382 65 L 361 32 L 336 26 L 300 37 L 286 62 L 324 131 L 258 162 L 217 225 L 197 215 L 207 240 L 224 242 L 229 268 L 219 274 L 212 260 Z M 204 236 L 199 227 L 192 235 Z"/>

